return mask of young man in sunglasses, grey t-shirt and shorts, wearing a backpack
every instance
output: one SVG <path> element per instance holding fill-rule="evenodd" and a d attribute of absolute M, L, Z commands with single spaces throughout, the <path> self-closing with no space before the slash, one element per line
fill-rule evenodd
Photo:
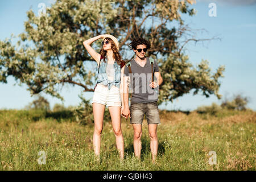
<path fill-rule="evenodd" d="M 141 158 L 142 121 L 146 114 L 152 162 L 155 162 L 158 152 L 157 127 L 160 123 L 158 110 L 158 86 L 163 79 L 155 60 L 146 57 L 150 42 L 143 38 L 134 39 L 130 43 L 135 53 L 135 59 L 126 63 L 123 73 L 123 108 L 122 116 L 130 117 L 134 129 L 134 153 Z M 156 81 L 154 80 L 156 78 Z M 129 90 L 132 91 L 129 109 Z"/>

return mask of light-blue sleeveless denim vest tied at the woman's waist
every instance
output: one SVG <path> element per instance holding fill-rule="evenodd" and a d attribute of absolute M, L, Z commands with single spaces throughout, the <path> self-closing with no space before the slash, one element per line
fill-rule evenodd
<path fill-rule="evenodd" d="M 117 64 L 117 61 L 114 62 L 115 77 L 114 77 L 114 81 L 110 82 L 108 80 L 108 76 L 106 75 L 107 64 L 108 64 L 108 57 L 106 57 L 106 63 L 104 62 L 104 59 L 100 60 L 100 68 L 98 68 L 97 84 L 108 85 L 109 90 L 112 87 L 112 85 L 115 85 L 117 86 L 117 88 L 119 88 L 120 81 L 121 81 L 121 66 Z"/>

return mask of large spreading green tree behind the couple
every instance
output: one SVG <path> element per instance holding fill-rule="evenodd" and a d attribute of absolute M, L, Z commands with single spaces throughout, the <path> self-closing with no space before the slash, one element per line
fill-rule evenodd
<path fill-rule="evenodd" d="M 45 92 L 61 100 L 59 86 L 64 84 L 92 92 L 97 64 L 82 42 L 98 34 L 112 34 L 119 40 L 123 59 L 130 60 L 130 40 L 143 36 L 152 44 L 148 56 L 161 58 L 164 84 L 160 86 L 160 102 L 172 101 L 191 89 L 195 94 L 202 90 L 207 97 L 215 94 L 220 98 L 218 79 L 224 67 L 211 73 L 208 62 L 203 61 L 195 69 L 184 55 L 188 42 L 216 39 L 196 39 L 184 24 L 181 14 L 196 13 L 188 3 L 195 1 L 57 0 L 45 16 L 30 10 L 24 22 L 26 32 L 19 34 L 16 46 L 11 39 L 0 41 L 0 81 L 6 83 L 7 77 L 13 76 L 26 84 L 31 94 Z M 94 46 L 99 48 L 100 42 Z"/>

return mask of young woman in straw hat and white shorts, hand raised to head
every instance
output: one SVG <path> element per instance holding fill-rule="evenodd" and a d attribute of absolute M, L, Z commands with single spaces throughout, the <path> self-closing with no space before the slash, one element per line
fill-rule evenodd
<path fill-rule="evenodd" d="M 91 46 L 94 41 L 103 39 L 100 53 L 97 53 Z M 112 120 L 112 126 L 119 151 L 120 159 L 123 159 L 123 135 L 121 130 L 121 107 L 123 105 L 122 94 L 120 94 L 121 70 L 125 61 L 121 60 L 119 54 L 118 40 L 112 35 L 98 35 L 84 41 L 84 47 L 90 56 L 98 64 L 97 84 L 93 94 L 93 116 L 94 116 L 94 133 L 93 147 L 95 155 L 100 158 L 101 133 L 103 129 L 103 119 L 105 105 L 109 107 Z"/>

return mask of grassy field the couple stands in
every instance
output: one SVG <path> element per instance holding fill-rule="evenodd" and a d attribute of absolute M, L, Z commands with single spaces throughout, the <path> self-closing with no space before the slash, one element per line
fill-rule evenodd
<path fill-rule="evenodd" d="M 119 161 L 112 125 L 104 121 L 99 162 L 93 124 L 44 111 L 0 110 L 0 170 L 255 170 L 255 111 L 160 116 L 158 159 L 152 164 L 146 120 L 141 161 L 134 157 L 133 129 L 122 119 L 125 159 Z M 46 152 L 46 164 L 38 163 L 39 151 Z M 209 151 L 216 152 L 217 164 L 209 164 Z"/>

